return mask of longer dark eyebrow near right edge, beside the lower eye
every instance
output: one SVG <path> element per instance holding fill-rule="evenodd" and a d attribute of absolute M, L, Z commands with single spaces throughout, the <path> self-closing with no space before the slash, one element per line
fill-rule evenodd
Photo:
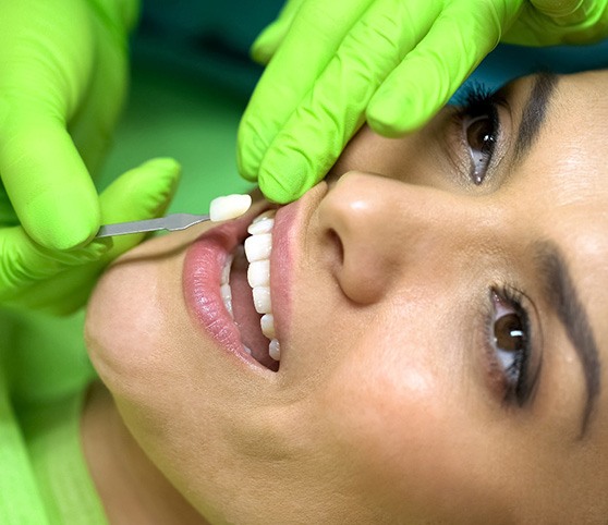
<path fill-rule="evenodd" d="M 583 438 L 600 392 L 599 352 L 588 315 L 579 297 L 568 264 L 559 247 L 550 241 L 535 244 L 536 262 L 545 294 L 566 329 L 583 366 L 586 401 L 580 438 Z"/>

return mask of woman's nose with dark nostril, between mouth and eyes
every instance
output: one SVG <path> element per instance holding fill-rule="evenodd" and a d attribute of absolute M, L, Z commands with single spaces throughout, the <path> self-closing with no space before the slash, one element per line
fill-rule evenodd
<path fill-rule="evenodd" d="M 368 173 L 342 175 L 318 211 L 324 239 L 337 247 L 332 271 L 343 293 L 365 305 L 404 276 L 446 274 L 488 230 L 472 200 Z"/>

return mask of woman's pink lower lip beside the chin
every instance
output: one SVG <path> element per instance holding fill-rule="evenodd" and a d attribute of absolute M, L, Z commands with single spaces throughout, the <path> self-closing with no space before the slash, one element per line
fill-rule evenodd
<path fill-rule="evenodd" d="M 220 294 L 220 281 L 228 256 L 246 235 L 251 217 L 226 222 L 205 232 L 187 249 L 182 286 L 190 314 L 204 333 L 228 353 L 255 363 L 245 353 L 241 335 Z"/>

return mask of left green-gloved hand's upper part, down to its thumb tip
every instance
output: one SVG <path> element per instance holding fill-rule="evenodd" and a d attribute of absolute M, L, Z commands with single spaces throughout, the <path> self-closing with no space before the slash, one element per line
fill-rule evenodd
<path fill-rule="evenodd" d="M 125 95 L 137 3 L 0 0 L 0 178 L 27 234 L 48 248 L 83 245 L 99 228 L 89 171 Z"/>

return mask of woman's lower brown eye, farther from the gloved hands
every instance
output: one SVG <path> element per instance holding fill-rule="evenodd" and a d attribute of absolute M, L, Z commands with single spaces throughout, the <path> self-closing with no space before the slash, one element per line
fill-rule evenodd
<path fill-rule="evenodd" d="M 522 405 L 531 393 L 528 362 L 530 323 L 525 309 L 514 297 L 493 291 L 493 316 L 489 326 L 491 351 L 497 359 L 504 386 L 504 399 Z"/>

